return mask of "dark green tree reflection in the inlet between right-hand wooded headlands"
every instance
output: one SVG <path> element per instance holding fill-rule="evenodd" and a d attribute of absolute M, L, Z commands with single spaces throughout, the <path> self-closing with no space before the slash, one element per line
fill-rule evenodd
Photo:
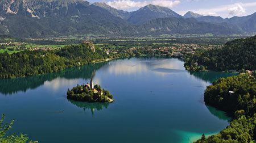
<path fill-rule="evenodd" d="M 221 73 L 221 72 L 190 72 L 189 74 L 194 75 L 199 79 L 203 79 L 204 81 L 214 82 L 219 78 L 226 78 L 233 75 L 237 75 L 237 73 Z"/>

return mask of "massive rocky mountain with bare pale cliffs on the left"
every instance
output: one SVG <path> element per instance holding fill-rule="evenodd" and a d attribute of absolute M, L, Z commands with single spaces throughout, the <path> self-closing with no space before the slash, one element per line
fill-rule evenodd
<path fill-rule="evenodd" d="M 2 35 L 101 35 L 129 26 L 125 20 L 82 0 L 2 0 L 0 5 Z"/>

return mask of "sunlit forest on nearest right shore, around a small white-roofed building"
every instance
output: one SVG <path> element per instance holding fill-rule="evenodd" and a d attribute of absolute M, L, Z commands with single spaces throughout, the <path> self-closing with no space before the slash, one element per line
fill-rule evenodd
<path fill-rule="evenodd" d="M 219 108 L 233 116 L 230 125 L 203 142 L 250 142 L 256 140 L 256 79 L 255 73 L 220 78 L 208 86 L 204 93 L 205 104 Z"/>

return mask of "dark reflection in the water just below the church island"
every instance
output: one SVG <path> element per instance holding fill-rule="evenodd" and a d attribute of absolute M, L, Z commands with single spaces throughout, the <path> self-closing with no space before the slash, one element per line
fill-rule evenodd
<path fill-rule="evenodd" d="M 103 108 L 108 108 L 109 106 L 109 102 L 104 102 L 104 103 L 89 103 L 89 102 L 79 102 L 79 101 L 75 101 L 75 100 L 68 100 L 70 103 L 76 105 L 79 108 L 83 108 L 84 111 L 86 109 L 90 110 L 90 112 L 92 112 L 92 115 L 94 113 L 94 110 L 100 111 Z"/>

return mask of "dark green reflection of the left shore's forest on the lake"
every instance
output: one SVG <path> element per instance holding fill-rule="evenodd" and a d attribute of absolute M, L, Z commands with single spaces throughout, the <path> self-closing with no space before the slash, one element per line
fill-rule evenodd
<path fill-rule="evenodd" d="M 46 81 L 52 81 L 57 77 L 64 77 L 67 79 L 83 78 L 89 79 L 94 77 L 95 71 L 100 69 L 106 62 L 98 64 L 84 65 L 77 68 L 65 69 L 62 72 L 49 73 L 38 76 L 14 78 L 14 79 L 1 79 L 0 80 L 0 92 L 2 94 L 14 94 L 18 91 L 26 91 L 27 89 L 35 89 L 36 87 L 43 85 Z"/>

